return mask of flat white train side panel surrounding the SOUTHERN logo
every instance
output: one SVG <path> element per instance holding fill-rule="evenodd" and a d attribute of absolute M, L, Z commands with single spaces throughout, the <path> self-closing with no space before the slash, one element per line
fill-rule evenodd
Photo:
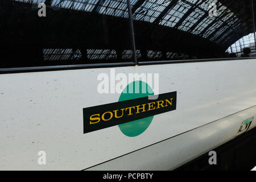
<path fill-rule="evenodd" d="M 119 94 L 97 93 L 97 75 L 110 68 L 0 75 L 0 169 L 84 169 L 255 106 L 255 68 L 256 60 L 115 68 L 116 73 L 159 73 L 160 94 L 177 91 L 177 110 L 156 115 L 135 138 L 118 126 L 83 134 L 82 108 L 118 101 Z M 255 110 L 238 117 L 230 132 L 252 115 Z M 226 132 L 223 125 L 217 135 Z M 215 138 L 212 146 L 216 142 L 221 143 Z M 199 155 L 205 148 L 197 150 Z M 45 166 L 38 165 L 38 151 L 46 151 Z M 173 159 L 183 158 L 181 151 L 176 154 Z"/>

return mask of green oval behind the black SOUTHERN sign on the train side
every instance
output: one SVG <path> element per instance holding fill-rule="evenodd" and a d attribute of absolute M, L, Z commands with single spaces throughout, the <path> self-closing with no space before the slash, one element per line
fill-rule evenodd
<path fill-rule="evenodd" d="M 131 86 L 133 86 L 133 88 L 130 88 Z M 143 86 L 144 88 L 147 88 L 147 90 L 145 90 L 146 92 L 144 91 L 144 93 L 142 92 Z M 133 92 L 129 93 L 129 88 L 133 89 Z M 137 93 L 135 93 L 135 90 L 137 90 Z M 148 97 L 148 96 L 154 96 L 154 93 L 151 87 L 146 82 L 134 81 L 126 86 L 126 88 L 121 93 L 121 96 L 119 97 L 118 102 L 132 100 L 135 98 Z M 119 129 L 122 131 L 122 133 L 125 134 L 127 137 L 137 137 L 138 135 L 141 135 L 144 131 L 146 131 L 148 126 L 150 126 L 150 123 L 152 122 L 153 118 L 154 118 L 154 115 L 148 118 L 138 119 L 136 121 L 131 121 L 129 123 L 124 123 L 118 126 L 119 126 Z"/>

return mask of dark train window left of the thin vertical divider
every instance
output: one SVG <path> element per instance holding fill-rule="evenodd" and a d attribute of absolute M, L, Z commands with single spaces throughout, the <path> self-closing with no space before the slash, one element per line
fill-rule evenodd
<path fill-rule="evenodd" d="M 1 0 L 0 68 L 132 63 L 127 12 L 126 0 Z"/>

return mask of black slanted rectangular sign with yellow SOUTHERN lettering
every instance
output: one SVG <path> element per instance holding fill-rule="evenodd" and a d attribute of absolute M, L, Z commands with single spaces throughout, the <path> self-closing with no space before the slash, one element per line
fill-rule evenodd
<path fill-rule="evenodd" d="M 177 92 L 170 92 L 156 100 L 142 97 L 84 108 L 84 134 L 176 110 L 176 102 Z"/>

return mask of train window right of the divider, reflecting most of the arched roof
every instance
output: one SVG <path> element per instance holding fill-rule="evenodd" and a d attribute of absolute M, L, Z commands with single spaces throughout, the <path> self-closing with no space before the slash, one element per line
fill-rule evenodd
<path fill-rule="evenodd" d="M 131 0 L 131 10 L 138 61 L 241 57 L 241 44 L 255 52 L 251 0 Z"/>

